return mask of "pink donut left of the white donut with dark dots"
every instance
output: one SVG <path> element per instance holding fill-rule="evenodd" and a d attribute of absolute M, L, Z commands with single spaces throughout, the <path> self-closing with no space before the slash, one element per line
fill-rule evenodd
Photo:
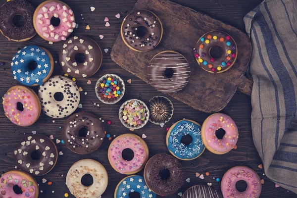
<path fill-rule="evenodd" d="M 34 124 L 41 112 L 37 94 L 24 86 L 13 86 L 3 96 L 5 116 L 18 126 L 27 127 Z"/>

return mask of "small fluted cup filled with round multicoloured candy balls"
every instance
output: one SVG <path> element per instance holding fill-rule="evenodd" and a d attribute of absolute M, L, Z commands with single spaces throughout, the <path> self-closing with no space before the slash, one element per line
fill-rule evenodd
<path fill-rule="evenodd" d="M 105 74 L 96 83 L 97 98 L 105 104 L 115 104 L 125 94 L 125 83 L 116 74 Z"/>

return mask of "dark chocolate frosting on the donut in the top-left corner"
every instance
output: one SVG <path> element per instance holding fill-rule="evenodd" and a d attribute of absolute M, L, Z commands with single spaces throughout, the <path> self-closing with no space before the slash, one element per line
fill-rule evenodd
<path fill-rule="evenodd" d="M 25 0 L 11 0 L 0 7 L 0 30 L 12 40 L 23 40 L 33 37 L 36 32 L 33 26 L 34 7 Z M 12 23 L 15 15 L 24 17 L 25 24 L 16 27 Z"/>

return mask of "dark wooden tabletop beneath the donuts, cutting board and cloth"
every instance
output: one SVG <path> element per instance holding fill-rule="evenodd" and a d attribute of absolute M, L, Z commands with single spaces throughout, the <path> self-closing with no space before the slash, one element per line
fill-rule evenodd
<path fill-rule="evenodd" d="M 6 0 L 0 0 L 0 4 Z M 122 19 L 126 15 L 124 12 L 131 11 L 136 0 L 64 0 L 74 11 L 76 22 L 79 24 L 78 29 L 75 29 L 72 35 L 84 35 L 93 38 L 98 42 L 99 46 L 103 49 L 109 49 L 107 53 L 103 51 L 103 62 L 99 71 L 90 78 L 92 84 L 87 84 L 89 79 L 76 81 L 79 87 L 82 87 L 81 103 L 83 110 L 92 112 L 98 117 L 104 119 L 104 127 L 107 133 L 113 135 L 121 135 L 124 133 L 130 133 L 129 129 L 126 129 L 118 118 L 118 109 L 122 102 L 127 99 L 142 99 L 147 102 L 148 99 L 153 96 L 161 95 L 153 87 L 144 83 L 140 79 L 134 77 L 118 65 L 112 62 L 110 59 L 110 50 L 112 48 L 115 39 L 120 31 L 120 25 Z M 262 0 L 173 0 L 174 2 L 191 7 L 199 12 L 210 15 L 213 18 L 222 20 L 225 23 L 229 23 L 240 30 L 244 31 L 245 26 L 243 23 L 244 15 L 258 5 Z M 30 2 L 37 7 L 42 0 L 30 0 Z M 94 12 L 91 12 L 90 7 L 96 7 Z M 115 15 L 121 14 L 121 18 L 117 19 Z M 81 16 L 83 14 L 83 16 Z M 86 21 L 84 21 L 82 19 Z M 104 18 L 109 18 L 110 27 L 105 27 Z M 91 27 L 90 30 L 86 30 L 86 25 Z M 99 35 L 104 35 L 102 40 L 99 39 Z M 189 35 L 191 36 L 191 32 Z M 58 60 L 59 48 L 62 43 L 55 43 L 49 45 L 48 42 L 41 39 L 39 36 L 35 36 L 33 39 L 25 43 L 9 42 L 6 38 L 0 35 L 0 62 L 5 62 L 4 66 L 0 66 L 0 95 L 3 96 L 5 92 L 13 85 L 19 83 L 12 78 L 10 62 L 13 54 L 18 48 L 23 48 L 26 45 L 38 45 L 49 49 L 52 53 L 54 60 Z M 129 58 L 129 57 L 127 57 Z M 123 99 L 114 105 L 107 105 L 99 102 L 95 95 L 95 83 L 102 75 L 106 73 L 115 73 L 120 75 L 125 81 L 132 79 L 132 83 L 126 83 L 126 93 Z M 59 63 L 55 63 L 53 74 L 63 75 L 63 71 Z M 36 90 L 36 88 L 35 88 Z M 87 92 L 87 95 L 84 93 Z M 166 96 L 174 104 L 174 115 L 172 122 L 178 121 L 183 118 L 192 119 L 202 124 L 204 119 L 209 115 L 202 113 L 198 110 L 194 110 L 190 106 L 179 102 L 169 96 Z M 100 104 L 100 108 L 93 108 L 91 102 Z M 77 109 L 77 110 L 82 110 Z M 174 195 L 168 196 L 168 198 L 179 198 L 178 193 L 185 192 L 188 188 L 198 184 L 212 183 L 212 186 L 216 190 L 220 190 L 220 183 L 216 182 L 214 178 L 222 178 L 224 173 L 233 166 L 245 165 L 254 169 L 264 179 L 265 183 L 262 185 L 261 198 L 293 198 L 296 195 L 292 192 L 287 192 L 283 188 L 275 188 L 275 184 L 271 182 L 266 176 L 263 175 L 263 169 L 258 168 L 261 164 L 261 159 L 258 155 L 256 148 L 254 147 L 251 134 L 251 104 L 250 98 L 246 95 L 237 92 L 230 103 L 223 109 L 223 112 L 230 115 L 236 122 L 240 138 L 238 141 L 238 148 L 232 150 L 224 155 L 215 155 L 208 150 L 197 159 L 192 161 L 181 161 L 185 172 L 185 183 L 182 188 Z M 55 122 L 53 122 L 53 120 Z M 110 120 L 111 125 L 107 125 L 106 121 Z M 52 119 L 41 114 L 39 120 L 30 127 L 18 127 L 12 124 L 5 116 L 3 108 L 0 107 L 0 173 L 4 173 L 9 170 L 15 169 L 15 163 L 13 159 L 12 151 L 14 150 L 18 141 L 24 137 L 24 133 L 31 134 L 32 131 L 37 131 L 38 134 L 44 134 L 47 136 L 53 135 L 54 138 L 61 140 L 60 126 L 64 124 L 65 119 Z M 149 148 L 149 155 L 160 152 L 168 152 L 165 143 L 166 127 L 170 127 L 171 121 L 165 124 L 164 128 L 148 123 L 144 128 L 136 130 L 133 133 L 142 136 L 143 133 L 147 135 L 145 139 Z M 64 145 L 59 143 L 57 145 L 58 151 L 62 151 L 64 154 L 59 155 L 56 166 L 47 175 L 36 177 L 37 182 L 40 184 L 40 190 L 43 193 L 40 194 L 40 198 L 63 198 L 65 193 L 69 193 L 65 185 L 65 176 L 70 166 L 85 158 L 91 158 L 98 160 L 104 165 L 108 172 L 109 183 L 102 198 L 113 198 L 114 190 L 120 180 L 125 175 L 121 175 L 112 169 L 107 159 L 107 149 L 110 141 L 104 140 L 102 146 L 92 154 L 79 155 L 71 152 Z M 205 172 L 210 173 L 209 176 L 205 176 Z M 196 172 L 204 174 L 204 179 L 201 180 L 196 177 Z M 143 171 L 138 174 L 143 174 Z M 64 176 L 61 176 L 64 175 Z M 52 181 L 52 185 L 42 183 L 42 179 L 45 178 L 48 181 Z M 186 179 L 190 178 L 190 183 L 186 182 Z M 54 191 L 54 193 L 52 193 Z M 69 196 L 73 198 L 72 195 Z M 159 198 L 160 196 L 158 196 Z"/>

